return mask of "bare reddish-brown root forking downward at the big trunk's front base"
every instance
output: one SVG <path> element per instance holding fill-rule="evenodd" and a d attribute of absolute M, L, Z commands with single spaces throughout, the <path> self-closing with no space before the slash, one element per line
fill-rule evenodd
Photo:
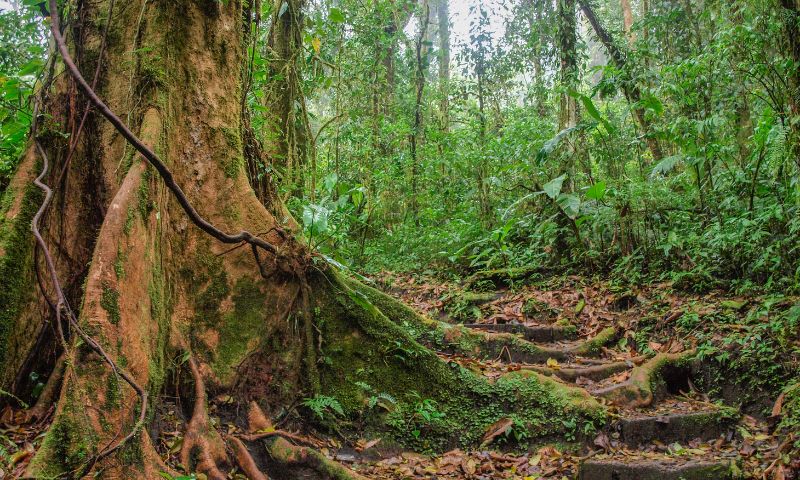
<path fill-rule="evenodd" d="M 192 411 L 192 418 L 186 427 L 181 447 L 181 463 L 186 468 L 192 465 L 193 453 L 197 458 L 198 472 L 206 474 L 211 480 L 225 480 L 227 476 L 219 468 L 220 464 L 228 463 L 228 455 L 225 453 L 225 444 L 219 433 L 209 425 L 208 421 L 208 396 L 206 386 L 197 362 L 189 357 L 189 369 L 194 378 L 195 401 Z"/>

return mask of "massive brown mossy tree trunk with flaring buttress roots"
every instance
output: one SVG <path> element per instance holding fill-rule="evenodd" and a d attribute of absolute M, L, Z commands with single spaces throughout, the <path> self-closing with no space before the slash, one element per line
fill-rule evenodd
<path fill-rule="evenodd" d="M 277 415 L 315 395 L 336 399 L 351 421 L 364 418 L 370 395 L 393 396 L 400 419 L 420 397 L 432 399 L 447 415 L 447 423 L 426 433 L 435 449 L 476 445 L 512 411 L 543 437 L 563 431 L 566 418 L 602 421 L 602 407 L 578 390 L 536 376 L 489 384 L 440 360 L 423 345 L 495 356 L 535 347 L 419 317 L 350 280 L 308 251 L 279 199 L 265 206 L 256 196 L 244 168 L 255 147 L 241 141 L 250 28 L 243 19 L 251 17 L 241 2 L 131 0 L 109 15 L 112 3 L 72 10 L 68 42 L 83 70 L 101 62 L 95 90 L 111 111 L 129 112 L 127 123 L 142 142 L 137 150 L 149 164 L 129 146 L 137 142 L 133 134 L 96 100 L 117 123 L 90 114 L 67 165 L 69 145 L 55 132 L 80 118 L 89 92 L 81 85 L 78 93 L 68 69 L 43 96 L 50 117 L 36 136 L 53 167 L 43 181 L 56 190 L 56 208 L 41 224 L 46 250 L 38 263 L 27 231 L 41 201 L 31 181 L 44 156 L 33 144 L 3 202 L 0 340 L 9 348 L 2 349 L 0 388 L 29 399 L 27 387 L 15 383 L 32 368 L 29 354 L 37 371 L 62 354 L 66 359 L 32 477 L 161 478 L 176 467 L 164 465 L 156 450 L 160 431 L 174 428 L 159 421 L 159 412 L 176 391 L 181 399 L 170 408 L 185 429 L 181 461 L 212 479 L 226 478 L 234 463 L 263 478 L 259 470 L 270 465 L 250 451 L 264 448 L 281 464 L 282 478 L 299 466 L 315 470 L 315 478 L 360 478 L 280 438 L 262 413 Z M 98 25 L 107 18 L 101 55 Z M 242 230 L 255 236 L 221 233 Z M 254 255 L 257 245 L 269 248 Z M 41 261 L 47 252 L 76 312 L 73 324 L 57 324 L 54 312 L 67 309 L 49 307 L 36 288 L 37 267 L 49 271 Z M 46 296 L 55 298 L 56 284 L 45 273 L 41 278 Z M 65 332 L 63 350 L 54 327 Z M 209 419 L 214 398 L 229 399 L 216 404 L 220 421 L 261 433 L 221 432 Z M 486 413 L 477 416 L 477 408 Z M 291 426 L 303 426 L 288 412 Z M 381 418 L 370 431 L 418 442 Z M 350 441 L 363 434 L 342 430 Z"/>

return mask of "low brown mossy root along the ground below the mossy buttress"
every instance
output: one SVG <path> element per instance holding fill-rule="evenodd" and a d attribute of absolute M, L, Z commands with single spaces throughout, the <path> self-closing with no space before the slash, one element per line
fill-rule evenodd
<path fill-rule="evenodd" d="M 251 402 L 248 413 L 250 432 L 273 430 L 259 406 Z M 320 452 L 309 448 L 292 445 L 281 437 L 271 437 L 265 445 L 272 459 L 289 467 L 306 467 L 317 472 L 319 478 L 326 480 L 367 480 L 356 472 L 334 462 Z"/>

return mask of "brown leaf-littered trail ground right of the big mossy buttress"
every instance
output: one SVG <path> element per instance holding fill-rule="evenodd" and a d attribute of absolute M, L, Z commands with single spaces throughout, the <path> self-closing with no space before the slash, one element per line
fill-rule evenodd
<path fill-rule="evenodd" d="M 594 358 L 569 356 L 562 360 L 548 359 L 544 365 L 518 362 L 510 355 L 476 360 L 440 353 L 444 359 L 490 379 L 509 371 L 533 369 L 562 377 L 565 383 L 597 395 L 628 382 L 644 357 L 696 348 L 703 337 L 699 330 L 710 331 L 704 323 L 716 324 L 714 318 L 719 313 L 738 318 L 741 323 L 717 325 L 719 328 L 713 329 L 716 338 L 703 338 L 725 343 L 726 331 L 745 328 L 749 306 L 760 301 L 722 292 L 681 293 L 666 283 L 631 289 L 574 276 L 500 288 L 491 282 L 484 285 L 473 282 L 466 288 L 463 283 L 443 282 L 434 277 L 391 273 L 376 276 L 374 280 L 388 293 L 432 318 L 469 324 L 473 328 L 525 335 L 542 327 L 574 325 L 578 338 L 591 338 L 608 327 L 624 332 L 616 344 L 604 347 Z M 479 291 L 475 292 L 476 289 Z M 694 327 L 697 335 L 691 331 L 686 334 L 686 322 L 681 324 L 684 316 L 706 319 Z M 565 350 L 570 344 L 566 339 L 548 342 Z M 741 478 L 793 478 L 791 472 L 800 467 L 800 460 L 787 463 L 786 442 L 772 435 L 780 415 L 780 405 L 773 403 L 774 398 L 756 398 L 745 409 L 747 413 L 734 412 L 733 418 L 727 423 L 723 421 L 721 427 L 693 427 L 683 420 L 703 418 L 718 411 L 724 408 L 721 402 L 702 393 L 689 378 L 668 390 L 644 408 L 609 405 L 614 427 L 586 432 L 588 436 L 583 442 L 572 438 L 564 443 L 515 452 L 503 445 L 507 440 L 502 430 L 504 425 L 495 424 L 487 430 L 485 450 L 469 453 L 453 450 L 438 456 L 404 453 L 367 463 L 349 456 L 340 460 L 354 461 L 355 469 L 375 479 L 528 480 L 576 476 L 627 479 L 651 478 L 650 475 L 668 479 L 682 478 L 684 474 L 686 478 L 729 478 L 727 472 L 715 476 L 701 471 L 703 466 L 722 464 L 735 465 L 733 474 Z M 771 419 L 770 410 L 775 415 Z M 674 427 L 668 425 L 670 422 Z M 642 468 L 627 470 L 623 466 L 617 473 L 619 476 L 614 476 L 602 468 L 603 464 L 614 462 L 640 464 Z M 582 463 L 585 465 L 581 471 Z"/>

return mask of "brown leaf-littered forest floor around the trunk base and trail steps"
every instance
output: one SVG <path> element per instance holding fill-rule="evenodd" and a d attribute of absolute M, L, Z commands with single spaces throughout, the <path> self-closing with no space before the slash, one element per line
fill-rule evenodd
<path fill-rule="evenodd" d="M 520 450 L 515 445 L 524 442 L 515 440 L 525 439 L 512 438 L 511 423 L 501 420 L 487 429 L 481 449 L 440 455 L 382 449 L 380 439 L 363 439 L 348 447 L 335 438 L 315 437 L 323 453 L 367 478 L 734 478 L 729 465 L 735 465 L 738 478 L 796 478 L 792 471 L 800 469 L 800 460 L 787 456 L 789 439 L 773 434 L 781 400 L 776 402 L 770 395 L 749 395 L 746 408 L 730 409 L 717 396 L 704 393 L 709 391 L 706 385 L 697 385 L 693 377 L 686 376 L 667 381 L 666 390 L 647 405 L 614 401 L 614 392 L 631 384 L 631 376 L 650 359 L 703 348 L 706 343 L 725 345 L 730 332 L 748 328 L 747 318 L 752 317 L 748 312 L 763 299 L 722 292 L 678 292 L 669 284 L 621 287 L 573 276 L 511 285 L 507 281 L 445 282 L 391 273 L 372 280 L 432 318 L 518 333 L 554 352 L 564 352 L 541 363 L 518 361 L 509 352 L 488 359 L 439 355 L 490 380 L 511 371 L 533 370 L 582 387 L 608 405 L 611 422 L 599 431 L 575 432 L 556 443 Z M 786 306 L 796 301 L 781 300 Z M 615 342 L 592 354 L 574 353 L 579 342 L 609 327 L 620 332 Z M 730 391 L 728 397 L 742 395 L 735 388 Z M 217 404 L 225 401 L 213 399 L 212 416 Z M 15 478 L 24 471 L 48 426 L 48 419 L 25 424 L 22 413 L 0 412 L 0 478 Z M 714 420 L 709 423 L 706 418 Z M 163 428 L 156 441 L 165 462 L 172 465 L 177 462 L 182 431 L 181 420 L 174 420 L 175 428 Z M 616 465 L 621 473 L 611 474 L 604 465 Z M 724 466 L 724 474 L 703 473 L 720 466 Z M 244 477 L 233 473 L 230 478 Z"/>

